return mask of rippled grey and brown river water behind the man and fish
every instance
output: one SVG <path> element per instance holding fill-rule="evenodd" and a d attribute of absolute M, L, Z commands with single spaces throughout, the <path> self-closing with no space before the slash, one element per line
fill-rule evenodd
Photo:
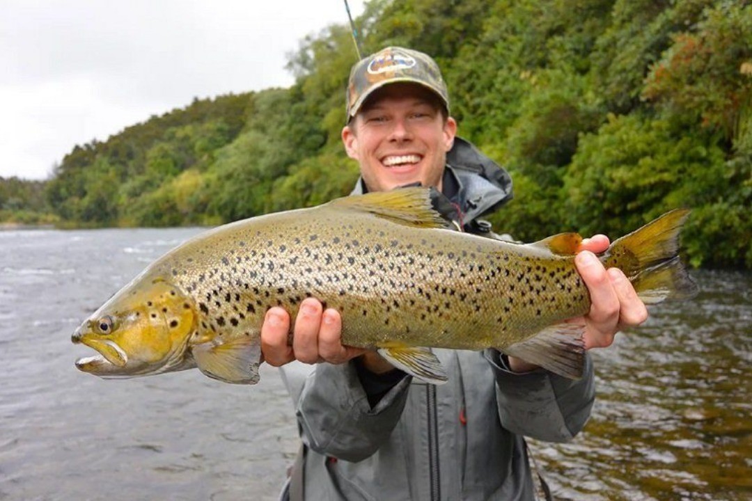
<path fill-rule="evenodd" d="M 83 318 L 197 228 L 0 231 L 0 499 L 276 499 L 298 447 L 278 373 L 105 381 L 74 369 Z M 559 499 L 752 499 L 749 273 L 694 273 L 594 352 L 573 442 L 532 444 Z"/>

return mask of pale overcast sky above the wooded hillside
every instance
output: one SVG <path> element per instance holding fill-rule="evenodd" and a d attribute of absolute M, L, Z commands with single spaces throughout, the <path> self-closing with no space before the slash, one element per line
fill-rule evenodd
<path fill-rule="evenodd" d="M 287 53 L 332 23 L 343 0 L 0 0 L 0 177 L 45 179 L 194 97 L 290 86 Z"/>

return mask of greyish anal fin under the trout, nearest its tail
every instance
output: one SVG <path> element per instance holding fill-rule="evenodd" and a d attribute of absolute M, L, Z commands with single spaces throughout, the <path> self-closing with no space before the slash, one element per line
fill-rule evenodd
<path fill-rule="evenodd" d="M 585 367 L 585 324 L 551 325 L 535 336 L 499 350 L 569 379 L 580 379 Z"/>

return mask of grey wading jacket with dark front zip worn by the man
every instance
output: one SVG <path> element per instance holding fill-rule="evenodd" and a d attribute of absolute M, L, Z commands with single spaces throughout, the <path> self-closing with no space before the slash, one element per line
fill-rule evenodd
<path fill-rule="evenodd" d="M 499 173 L 490 182 L 488 165 L 466 165 L 447 168 L 444 194 L 466 229 L 487 231 L 475 219 L 508 199 L 511 185 Z M 582 429 L 594 398 L 590 358 L 572 381 L 512 373 L 493 349 L 434 353 L 447 384 L 403 376 L 372 408 L 354 362 L 282 368 L 305 445 L 296 463 L 305 499 L 534 499 L 523 436 L 563 442 Z"/>

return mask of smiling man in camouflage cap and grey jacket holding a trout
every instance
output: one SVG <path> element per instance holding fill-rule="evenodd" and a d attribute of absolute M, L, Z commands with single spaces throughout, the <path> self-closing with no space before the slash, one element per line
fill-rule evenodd
<path fill-rule="evenodd" d="M 429 56 L 389 47 L 356 63 L 347 119 L 342 141 L 361 173 L 355 193 L 434 186 L 458 209 L 447 216 L 493 237 L 478 216 L 511 197 L 508 178 L 455 137 L 447 89 Z M 623 273 L 593 255 L 607 246 L 606 237 L 593 237 L 576 258 L 593 303 L 584 317 L 587 349 L 611 345 L 621 326 L 647 318 Z M 436 349 L 449 382 L 426 385 L 375 352 L 343 346 L 342 321 L 309 298 L 294 320 L 270 309 L 262 327 L 269 364 L 329 362 L 305 379 L 284 367 L 305 444 L 292 499 L 532 499 L 523 436 L 568 440 L 590 415 L 589 357 L 584 377 L 572 381 L 493 349 Z"/>

